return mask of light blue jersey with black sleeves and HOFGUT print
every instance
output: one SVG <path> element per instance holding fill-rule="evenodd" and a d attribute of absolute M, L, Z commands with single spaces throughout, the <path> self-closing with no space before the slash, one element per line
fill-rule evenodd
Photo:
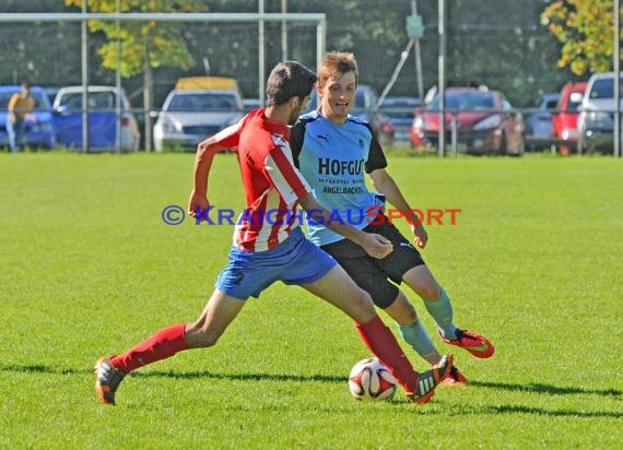
<path fill-rule="evenodd" d="M 365 174 L 387 167 L 369 123 L 349 115 L 345 123 L 336 125 L 312 111 L 292 127 L 290 147 L 294 164 L 332 217 L 358 229 L 366 227 L 366 211 L 379 201 L 368 191 Z M 307 222 L 307 235 L 318 246 L 344 238 L 313 221 Z"/>

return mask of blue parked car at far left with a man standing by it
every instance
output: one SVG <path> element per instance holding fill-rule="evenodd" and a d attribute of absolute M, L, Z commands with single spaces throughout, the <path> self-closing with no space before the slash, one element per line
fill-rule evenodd
<path fill-rule="evenodd" d="M 22 86 L 0 86 L 0 146 L 9 146 L 7 133 L 7 107 L 11 96 L 22 90 Z M 36 121 L 26 121 L 26 130 L 22 144 L 32 147 L 54 149 L 57 145 L 57 130 L 52 114 L 52 107 L 46 95 L 45 88 L 31 86 L 31 96 L 35 100 L 35 109 L 32 111 Z"/>

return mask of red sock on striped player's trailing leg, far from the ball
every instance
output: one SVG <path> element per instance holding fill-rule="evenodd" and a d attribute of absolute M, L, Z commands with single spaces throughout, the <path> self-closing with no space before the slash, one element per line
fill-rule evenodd
<path fill-rule="evenodd" d="M 110 358 L 110 364 L 122 372 L 129 374 L 139 367 L 172 357 L 177 352 L 188 348 L 184 339 L 185 327 L 185 323 L 179 323 L 163 328 L 122 355 Z"/>

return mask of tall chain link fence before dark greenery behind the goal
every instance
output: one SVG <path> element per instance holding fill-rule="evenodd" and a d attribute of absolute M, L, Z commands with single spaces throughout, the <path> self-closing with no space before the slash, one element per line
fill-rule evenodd
<path fill-rule="evenodd" d="M 114 4 L 115 1 L 111 1 Z M 379 93 L 387 86 L 401 60 L 409 36 L 405 20 L 416 9 L 422 16 L 424 34 L 419 39 L 421 71 L 415 52 L 410 51 L 389 91 L 389 96 L 420 96 L 438 83 L 438 3 L 413 0 L 221 0 L 197 1 L 209 12 L 257 13 L 260 3 L 266 13 L 325 13 L 327 16 L 327 50 L 353 51 L 360 63 L 361 83 Z M 543 94 L 560 92 L 568 82 L 580 81 L 566 69 L 557 67 L 560 44 L 541 25 L 540 15 L 546 1 L 522 2 L 487 0 L 447 1 L 448 86 L 486 85 L 503 92 L 515 108 L 528 116 Z M 175 7 L 175 1 L 166 3 Z M 0 13 L 75 12 L 62 0 L 4 0 Z M 153 107 L 158 109 L 167 93 L 181 76 L 231 76 L 237 80 L 245 97 L 257 98 L 259 67 L 259 32 L 257 23 L 179 22 L 185 45 L 195 60 L 190 68 L 158 66 L 154 68 Z M 284 55 L 315 68 L 317 28 L 313 23 L 265 23 L 266 74 Z M 20 84 L 54 88 L 82 82 L 81 24 L 77 22 L 33 22 L 0 24 L 0 84 Z M 102 67 L 101 47 L 106 43 L 102 33 L 90 33 L 87 39 L 89 83 L 115 85 L 114 70 Z M 284 47 L 285 44 L 285 47 Z M 587 76 L 584 76 L 586 80 Z M 141 111 L 143 104 L 142 74 L 124 79 L 121 84 L 132 104 Z M 142 117 L 138 114 L 138 117 Z"/>

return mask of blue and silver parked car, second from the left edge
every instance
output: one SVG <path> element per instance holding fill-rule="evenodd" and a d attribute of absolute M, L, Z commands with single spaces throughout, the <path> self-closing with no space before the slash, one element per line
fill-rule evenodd
<path fill-rule="evenodd" d="M 58 141 L 68 149 L 82 149 L 83 86 L 61 87 L 54 100 L 57 116 Z M 89 151 L 98 152 L 117 147 L 120 125 L 120 146 L 125 152 L 137 152 L 141 133 L 126 94 L 121 91 L 121 117 L 117 117 L 117 87 L 89 86 Z"/>

